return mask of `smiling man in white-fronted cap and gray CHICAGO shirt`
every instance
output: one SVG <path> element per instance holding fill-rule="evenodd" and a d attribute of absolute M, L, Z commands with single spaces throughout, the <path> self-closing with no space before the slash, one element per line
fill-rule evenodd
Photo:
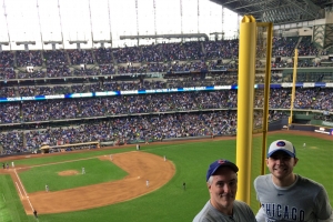
<path fill-rule="evenodd" d="M 271 143 L 266 159 L 271 173 L 254 180 L 256 199 L 261 204 L 255 215 L 259 222 L 333 221 L 325 188 L 293 173 L 297 161 L 295 148 L 290 141 Z"/>

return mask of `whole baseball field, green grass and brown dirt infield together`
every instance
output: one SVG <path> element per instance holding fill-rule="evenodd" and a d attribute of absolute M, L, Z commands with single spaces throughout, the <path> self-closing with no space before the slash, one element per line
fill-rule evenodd
<path fill-rule="evenodd" d="M 333 205 L 333 137 L 281 131 L 270 133 L 268 143 L 278 139 L 293 142 L 300 159 L 295 172 L 322 183 Z M 10 165 L 0 170 L 0 221 L 36 221 L 32 209 L 41 222 L 192 221 L 209 200 L 209 164 L 235 161 L 235 138 L 215 138 L 142 144 L 140 151 L 133 144 L 0 158 Z M 260 174 L 261 137 L 253 137 L 252 147 L 253 181 Z M 252 184 L 251 208 L 259 209 Z"/>

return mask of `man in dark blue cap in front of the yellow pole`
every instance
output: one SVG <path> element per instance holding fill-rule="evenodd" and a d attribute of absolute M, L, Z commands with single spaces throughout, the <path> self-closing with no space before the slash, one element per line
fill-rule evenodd
<path fill-rule="evenodd" d="M 193 222 L 256 222 L 250 206 L 235 200 L 239 168 L 228 160 L 216 160 L 206 172 L 205 181 L 211 199 Z"/>

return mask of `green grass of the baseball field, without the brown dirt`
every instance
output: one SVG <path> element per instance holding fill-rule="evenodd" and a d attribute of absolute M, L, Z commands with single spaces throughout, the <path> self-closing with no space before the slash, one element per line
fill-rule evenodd
<path fill-rule="evenodd" d="M 272 134 L 269 135 L 268 144 L 273 140 L 285 139 L 294 143 L 300 159 L 295 172 L 304 176 L 311 178 L 322 183 L 329 192 L 331 204 L 333 205 L 333 142 L 321 140 L 317 138 L 291 135 L 291 134 Z M 306 148 L 303 148 L 303 143 Z M 202 209 L 209 200 L 209 192 L 205 185 L 205 173 L 208 165 L 216 159 L 224 158 L 235 161 L 235 140 L 228 141 L 211 141 L 211 142 L 184 142 L 174 144 L 150 144 L 142 145 L 142 152 L 150 152 L 157 155 L 167 155 L 168 160 L 175 164 L 176 173 L 172 180 L 161 189 L 140 196 L 138 199 L 85 211 L 58 214 L 40 214 L 41 222 L 90 222 L 90 221 L 159 221 L 159 222 L 184 222 L 192 221 L 194 215 Z M 253 139 L 252 159 L 252 181 L 260 174 L 260 148 L 261 138 Z M 33 168 L 33 172 L 22 172 L 20 178 L 29 192 L 36 190 L 44 190 L 46 181 L 49 184 L 56 184 L 58 176 L 54 173 L 65 169 L 77 169 L 81 172 L 84 167 L 87 175 L 90 174 L 89 169 L 94 169 L 101 164 L 105 170 L 115 170 L 112 163 L 108 161 L 98 162 L 98 159 L 89 159 L 110 153 L 119 153 L 134 150 L 125 149 L 108 149 L 94 152 L 69 153 L 68 155 L 46 155 L 39 159 L 24 159 L 16 161 L 16 167 L 20 165 L 40 165 L 48 163 L 59 163 L 63 161 L 79 160 L 69 163 L 59 163 L 44 167 Z M 1 159 L 0 159 L 1 162 Z M 61 168 L 61 170 L 60 170 Z M 102 173 L 95 171 L 94 176 L 89 180 L 80 180 L 80 185 L 103 182 L 104 180 L 118 180 L 125 173 L 118 169 L 112 178 L 104 178 Z M 30 174 L 32 173 L 32 174 Z M 39 173 L 54 176 L 38 176 Z M 163 172 L 161 172 L 163 173 Z M 32 179 L 30 178 L 32 176 Z M 74 175 L 80 178 L 80 175 Z M 102 176 L 102 179 L 100 179 Z M 30 178 L 30 179 L 29 179 Z M 67 178 L 67 176 L 65 176 Z M 81 176 L 82 178 L 82 176 Z M 69 178 L 67 178 L 69 179 Z M 29 182 L 28 182 L 29 180 Z M 32 180 L 32 181 L 31 181 Z M 182 189 L 182 183 L 186 182 L 186 190 Z M 73 188 L 79 183 L 77 180 L 65 182 L 63 188 Z M 75 184 L 77 183 L 77 184 Z M 59 190 L 62 189 L 58 183 Z M 51 190 L 52 190 L 52 185 Z M 50 203 L 52 204 L 52 203 Z M 65 203 L 64 203 L 65 204 Z M 259 209 L 259 203 L 255 200 L 253 184 L 251 184 L 251 208 L 254 213 Z M 10 176 L 0 175 L 0 222 L 23 222 L 36 221 L 32 215 L 26 215 L 21 205 L 14 184 Z"/>

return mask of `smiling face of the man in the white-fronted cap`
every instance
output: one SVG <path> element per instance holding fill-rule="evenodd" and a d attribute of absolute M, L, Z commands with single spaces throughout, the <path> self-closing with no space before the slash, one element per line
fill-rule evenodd
<path fill-rule="evenodd" d="M 292 158 L 283 151 L 278 151 L 266 159 L 270 172 L 278 180 L 284 180 L 291 176 L 296 163 L 296 158 Z"/>

